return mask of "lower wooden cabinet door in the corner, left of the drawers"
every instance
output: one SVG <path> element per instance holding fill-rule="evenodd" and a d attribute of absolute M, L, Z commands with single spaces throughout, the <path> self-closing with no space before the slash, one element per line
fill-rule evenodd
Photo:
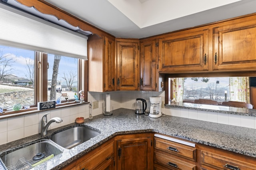
<path fill-rule="evenodd" d="M 117 141 L 118 170 L 150 170 L 151 138 L 141 137 Z"/>

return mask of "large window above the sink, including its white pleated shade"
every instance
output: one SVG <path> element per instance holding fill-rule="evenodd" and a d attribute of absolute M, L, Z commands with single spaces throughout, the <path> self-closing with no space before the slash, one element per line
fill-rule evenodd
<path fill-rule="evenodd" d="M 0 107 L 71 102 L 79 90 L 87 92 L 88 37 L 10 6 L 0 6 L 0 14 Z"/>

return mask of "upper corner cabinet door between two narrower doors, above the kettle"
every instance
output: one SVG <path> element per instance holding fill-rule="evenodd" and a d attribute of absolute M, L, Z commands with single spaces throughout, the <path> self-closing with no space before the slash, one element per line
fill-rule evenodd
<path fill-rule="evenodd" d="M 139 41 L 117 41 L 117 90 L 138 90 Z"/>

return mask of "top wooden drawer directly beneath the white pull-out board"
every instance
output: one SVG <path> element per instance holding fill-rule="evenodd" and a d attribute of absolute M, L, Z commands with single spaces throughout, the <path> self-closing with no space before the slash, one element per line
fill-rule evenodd
<path fill-rule="evenodd" d="M 196 148 L 158 137 L 154 138 L 154 148 L 196 161 Z"/>

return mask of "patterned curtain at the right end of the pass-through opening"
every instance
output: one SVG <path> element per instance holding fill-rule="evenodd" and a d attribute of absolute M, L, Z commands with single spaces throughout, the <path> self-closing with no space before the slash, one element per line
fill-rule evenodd
<path fill-rule="evenodd" d="M 230 77 L 230 100 L 250 103 L 249 77 Z"/>

